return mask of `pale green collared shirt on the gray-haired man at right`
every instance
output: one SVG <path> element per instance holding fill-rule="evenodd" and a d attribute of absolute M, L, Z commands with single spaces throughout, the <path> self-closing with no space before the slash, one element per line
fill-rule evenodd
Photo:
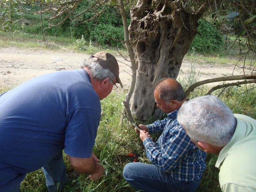
<path fill-rule="evenodd" d="M 220 169 L 220 188 L 223 192 L 256 191 L 256 120 L 234 116 L 236 131 L 215 164 Z"/>

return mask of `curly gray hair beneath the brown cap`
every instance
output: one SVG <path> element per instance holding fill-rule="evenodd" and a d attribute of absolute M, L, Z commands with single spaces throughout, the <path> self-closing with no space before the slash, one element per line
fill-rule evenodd
<path fill-rule="evenodd" d="M 103 68 L 98 62 L 91 63 L 86 60 L 82 60 L 80 68 L 84 67 L 88 68 L 92 78 L 98 79 L 100 81 L 109 77 L 109 82 L 111 82 L 111 80 L 115 77 L 115 75 L 111 73 L 109 69 Z"/>

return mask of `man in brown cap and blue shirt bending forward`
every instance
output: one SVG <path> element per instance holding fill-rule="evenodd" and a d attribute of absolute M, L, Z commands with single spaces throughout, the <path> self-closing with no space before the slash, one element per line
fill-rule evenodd
<path fill-rule="evenodd" d="M 0 94 L 0 191 L 19 191 L 26 174 L 43 167 L 49 191 L 60 191 L 73 168 L 99 179 L 104 168 L 92 154 L 100 100 L 119 83 L 115 57 L 98 52 L 82 69 L 33 78 Z M 57 188 L 57 186 L 59 186 Z"/>

